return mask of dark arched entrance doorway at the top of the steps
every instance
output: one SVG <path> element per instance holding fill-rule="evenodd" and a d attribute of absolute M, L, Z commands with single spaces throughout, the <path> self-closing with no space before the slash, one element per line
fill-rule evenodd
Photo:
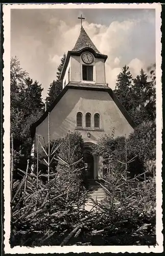
<path fill-rule="evenodd" d="M 93 175 L 93 167 L 94 167 L 94 161 L 93 156 L 89 151 L 84 152 L 84 162 L 85 162 L 85 176 L 87 179 L 94 179 Z"/>

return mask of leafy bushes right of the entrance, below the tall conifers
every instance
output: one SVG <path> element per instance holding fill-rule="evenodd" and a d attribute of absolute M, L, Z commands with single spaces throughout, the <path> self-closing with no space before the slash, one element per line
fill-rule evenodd
<path fill-rule="evenodd" d="M 150 169 L 154 172 L 154 161 L 156 159 L 155 122 L 148 121 L 139 124 L 128 139 L 123 136 L 114 138 L 114 131 L 112 134 L 100 137 L 97 145 L 93 147 L 93 152 L 103 156 L 104 173 L 107 172 L 109 166 L 118 170 L 118 172 L 125 169 L 126 147 L 127 162 L 130 161 L 127 170 L 131 177 L 149 169 L 149 162 L 150 164 L 152 162 L 152 168 Z M 134 158 L 133 162 L 131 162 L 132 158 Z M 150 172 L 150 175 L 153 175 L 153 173 Z"/>

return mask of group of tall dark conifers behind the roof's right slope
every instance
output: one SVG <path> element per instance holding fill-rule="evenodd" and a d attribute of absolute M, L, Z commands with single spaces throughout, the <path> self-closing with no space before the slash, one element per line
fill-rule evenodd
<path fill-rule="evenodd" d="M 149 77 L 143 69 L 133 79 L 127 66 L 124 66 L 117 76 L 114 93 L 136 125 L 155 119 L 155 65 L 149 67 L 148 71 L 151 74 L 151 81 L 148 81 Z"/>

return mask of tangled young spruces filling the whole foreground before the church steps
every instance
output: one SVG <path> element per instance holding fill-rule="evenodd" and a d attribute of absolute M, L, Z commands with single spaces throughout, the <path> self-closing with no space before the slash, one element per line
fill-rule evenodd
<path fill-rule="evenodd" d="M 69 136 L 69 135 L 68 135 Z M 102 202 L 93 200 L 89 212 L 83 204 L 89 192 L 82 186 L 82 170 L 74 162 L 65 137 L 64 160 L 58 154 L 57 172 L 43 183 L 42 174 L 22 172 L 14 181 L 11 246 L 41 245 L 155 245 L 155 178 L 127 178 L 109 166 Z M 81 136 L 80 136 L 81 140 Z M 57 146 L 54 146 L 57 148 Z"/>

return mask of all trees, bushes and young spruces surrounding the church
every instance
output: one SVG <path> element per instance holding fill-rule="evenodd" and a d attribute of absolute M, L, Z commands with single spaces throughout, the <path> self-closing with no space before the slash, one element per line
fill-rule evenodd
<path fill-rule="evenodd" d="M 93 154 L 103 156 L 100 185 L 106 198 L 99 202 L 83 184 L 83 139 L 77 132 L 48 145 L 39 136 L 42 153 L 37 147 L 30 168 L 30 125 L 43 113 L 42 88 L 22 71 L 17 58 L 11 59 L 11 156 L 15 173 L 22 177 L 11 179 L 11 247 L 156 244 L 155 66 L 149 72 L 150 83 L 143 70 L 132 79 L 127 66 L 117 76 L 115 93 L 137 126 L 127 139 L 115 138 L 113 129 L 93 147 Z M 87 211 L 89 198 L 93 208 Z"/>

